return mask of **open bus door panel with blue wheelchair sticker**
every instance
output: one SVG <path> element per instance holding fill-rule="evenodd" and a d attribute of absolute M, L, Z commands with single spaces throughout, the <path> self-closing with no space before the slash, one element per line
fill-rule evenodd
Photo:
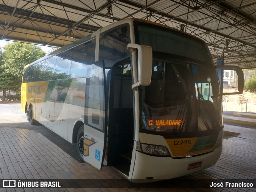
<path fill-rule="evenodd" d="M 101 169 L 106 145 L 104 61 L 88 66 L 84 107 L 84 161 Z"/>

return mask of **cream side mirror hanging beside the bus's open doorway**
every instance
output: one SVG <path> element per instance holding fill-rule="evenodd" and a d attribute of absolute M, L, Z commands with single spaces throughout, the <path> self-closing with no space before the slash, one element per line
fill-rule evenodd
<path fill-rule="evenodd" d="M 138 44 L 128 44 L 130 51 L 138 49 L 138 82 L 132 85 L 132 89 L 140 85 L 148 86 L 152 75 L 152 48 Z"/>

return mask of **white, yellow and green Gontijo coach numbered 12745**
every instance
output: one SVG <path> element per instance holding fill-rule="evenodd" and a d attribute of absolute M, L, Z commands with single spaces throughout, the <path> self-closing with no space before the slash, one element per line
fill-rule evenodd
<path fill-rule="evenodd" d="M 21 110 L 76 145 L 82 162 L 131 182 L 213 166 L 222 152 L 222 93 L 203 40 L 128 18 L 24 67 Z"/>

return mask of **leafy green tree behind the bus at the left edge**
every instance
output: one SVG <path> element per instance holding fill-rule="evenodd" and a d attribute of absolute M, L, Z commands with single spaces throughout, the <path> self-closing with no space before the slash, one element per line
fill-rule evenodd
<path fill-rule="evenodd" d="M 0 90 L 20 92 L 24 66 L 44 55 L 45 52 L 39 46 L 32 44 L 14 42 L 4 46 Z"/>

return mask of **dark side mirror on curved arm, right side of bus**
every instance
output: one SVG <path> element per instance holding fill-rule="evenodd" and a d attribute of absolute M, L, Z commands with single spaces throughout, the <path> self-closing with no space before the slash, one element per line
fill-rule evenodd
<path fill-rule="evenodd" d="M 238 66 L 232 65 L 216 65 L 216 69 L 224 69 L 224 70 L 233 70 L 236 71 L 237 74 L 237 81 L 238 81 L 238 92 L 231 92 L 231 93 L 222 93 L 221 95 L 234 95 L 234 94 L 242 94 L 244 91 L 244 72 Z"/>

